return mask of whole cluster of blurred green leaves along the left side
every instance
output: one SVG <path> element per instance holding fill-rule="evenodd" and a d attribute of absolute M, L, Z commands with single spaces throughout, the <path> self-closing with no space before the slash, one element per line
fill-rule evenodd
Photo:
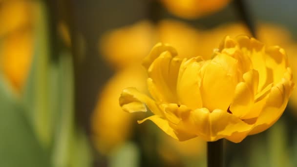
<path fill-rule="evenodd" d="M 34 59 L 24 93 L 0 76 L 0 167 L 88 167 L 85 131 L 75 124 L 72 55 L 52 61 L 47 8 L 36 1 Z"/>

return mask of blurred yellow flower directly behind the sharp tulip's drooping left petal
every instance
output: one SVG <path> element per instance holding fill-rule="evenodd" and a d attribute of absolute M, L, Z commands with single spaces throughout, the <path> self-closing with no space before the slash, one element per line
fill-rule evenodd
<path fill-rule="evenodd" d="M 145 82 L 145 70 L 133 66 L 117 72 L 101 91 L 92 116 L 93 140 L 101 153 L 108 154 L 125 142 L 131 133 L 133 117 L 116 105 L 119 91 L 130 85 L 144 91 Z"/>

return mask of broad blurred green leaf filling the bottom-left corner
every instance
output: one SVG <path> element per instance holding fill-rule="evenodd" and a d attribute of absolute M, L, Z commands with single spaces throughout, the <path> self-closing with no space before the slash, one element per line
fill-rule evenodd
<path fill-rule="evenodd" d="M 49 167 L 25 108 L 0 77 L 0 167 Z"/>

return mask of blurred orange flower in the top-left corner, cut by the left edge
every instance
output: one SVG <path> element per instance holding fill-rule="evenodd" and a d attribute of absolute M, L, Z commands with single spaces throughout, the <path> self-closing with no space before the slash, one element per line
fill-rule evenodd
<path fill-rule="evenodd" d="M 20 92 L 33 56 L 33 3 L 5 0 L 0 6 L 0 68 Z"/>

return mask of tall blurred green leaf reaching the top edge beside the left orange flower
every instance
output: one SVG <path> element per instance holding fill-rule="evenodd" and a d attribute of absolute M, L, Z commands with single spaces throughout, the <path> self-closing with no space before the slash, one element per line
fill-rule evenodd
<path fill-rule="evenodd" d="M 47 9 L 43 1 L 34 1 L 36 11 L 35 51 L 32 68 L 24 89 L 24 104 L 29 108 L 26 113 L 34 127 L 38 139 L 44 147 L 49 147 L 53 136 L 53 114 L 49 104 L 49 38 Z"/>

